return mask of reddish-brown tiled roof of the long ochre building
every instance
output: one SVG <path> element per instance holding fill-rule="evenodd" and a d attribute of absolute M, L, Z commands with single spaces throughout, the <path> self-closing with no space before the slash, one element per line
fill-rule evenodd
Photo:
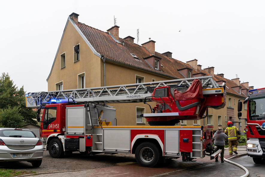
<path fill-rule="evenodd" d="M 149 70 L 152 72 L 156 72 L 158 74 L 165 74 L 167 76 L 171 76 L 173 78 L 185 78 L 178 70 L 183 68 L 192 68 L 189 64 L 184 63 L 182 61 L 178 61 L 174 58 L 169 58 L 166 55 L 163 55 L 161 53 L 155 52 L 155 56 L 158 56 L 161 59 L 161 64 L 163 67 L 161 67 L 161 71 L 153 69 L 143 58 L 152 56 L 152 54 L 143 46 L 140 46 L 138 44 L 131 43 L 125 39 L 119 38 L 120 43 L 117 43 L 113 40 L 111 35 L 108 32 L 103 32 L 99 29 L 95 29 L 93 27 L 87 26 L 83 23 L 76 23 L 78 28 L 81 30 L 81 32 L 84 34 L 84 36 L 87 38 L 87 40 L 90 42 L 90 44 L 93 46 L 93 48 L 101 55 L 104 55 L 105 58 L 111 59 L 116 62 L 121 62 L 124 64 L 128 64 L 135 67 L 140 67 L 145 70 Z M 122 44 L 124 42 L 124 45 Z M 133 56 L 130 54 L 135 54 L 138 59 L 133 58 Z M 192 68 L 193 69 L 193 68 Z M 200 69 L 193 69 L 192 74 L 196 73 L 205 73 L 205 76 L 210 76 L 210 74 L 205 70 Z M 226 88 L 226 91 L 228 93 L 238 95 L 238 96 L 245 96 L 240 95 L 237 93 L 232 87 L 237 86 L 235 82 L 232 80 L 222 78 L 220 76 L 214 75 L 213 79 L 215 81 L 224 80 L 226 81 L 226 86 L 229 88 Z M 244 85 L 240 84 L 242 89 L 246 88 Z M 248 88 L 247 88 L 248 89 Z"/>

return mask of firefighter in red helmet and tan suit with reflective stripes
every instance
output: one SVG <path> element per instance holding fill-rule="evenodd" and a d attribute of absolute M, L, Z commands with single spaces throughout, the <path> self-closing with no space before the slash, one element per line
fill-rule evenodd
<path fill-rule="evenodd" d="M 228 127 L 225 129 L 225 134 L 228 136 L 228 144 L 229 144 L 229 155 L 233 155 L 237 153 L 237 145 L 240 139 L 240 132 L 237 127 L 233 126 L 231 121 L 227 122 Z"/>

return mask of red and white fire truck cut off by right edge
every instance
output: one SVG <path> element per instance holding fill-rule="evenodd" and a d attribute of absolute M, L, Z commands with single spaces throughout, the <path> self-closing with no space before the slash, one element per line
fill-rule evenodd
<path fill-rule="evenodd" d="M 256 164 L 265 163 L 265 88 L 249 90 L 246 122 L 246 151 Z M 238 104 L 238 117 L 242 116 L 242 102 Z"/>

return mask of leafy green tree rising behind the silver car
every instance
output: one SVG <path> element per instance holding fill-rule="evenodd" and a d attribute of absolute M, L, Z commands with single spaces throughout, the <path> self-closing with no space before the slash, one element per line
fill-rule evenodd
<path fill-rule="evenodd" d="M 24 87 L 22 86 L 18 89 L 8 73 L 2 73 L 0 77 L 0 110 L 2 113 L 5 113 L 5 111 L 10 112 L 9 116 L 11 116 L 13 115 L 13 109 L 18 111 L 19 117 L 22 117 L 23 124 L 37 124 L 37 121 L 34 120 L 36 112 L 26 107 Z M 13 116 L 11 117 L 14 118 Z M 1 122 L 1 116 L 0 124 L 6 127 L 4 122 Z"/>

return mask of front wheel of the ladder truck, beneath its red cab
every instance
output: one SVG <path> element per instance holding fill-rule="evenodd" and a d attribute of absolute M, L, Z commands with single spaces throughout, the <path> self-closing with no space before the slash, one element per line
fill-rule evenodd
<path fill-rule="evenodd" d="M 49 143 L 49 154 L 52 158 L 62 158 L 64 155 L 63 144 L 57 138 L 54 138 Z"/>

